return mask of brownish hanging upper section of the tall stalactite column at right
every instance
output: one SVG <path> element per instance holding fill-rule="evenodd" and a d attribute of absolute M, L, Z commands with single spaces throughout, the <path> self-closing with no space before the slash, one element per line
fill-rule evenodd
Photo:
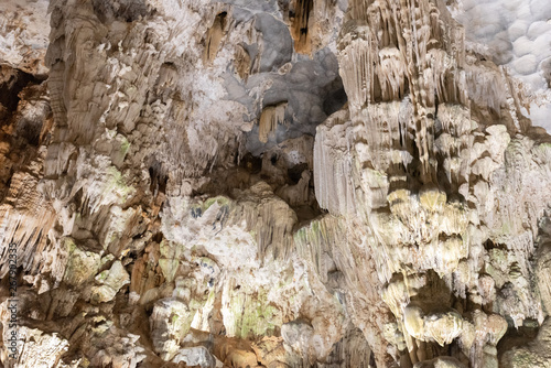
<path fill-rule="evenodd" d="M 439 104 L 468 107 L 463 71 L 464 32 L 437 1 L 352 1 L 343 28 L 339 65 L 350 118 L 363 121 L 372 156 L 392 132 L 406 137 L 412 128 L 423 183 L 436 180 L 433 148 Z M 382 121 L 369 107 L 403 100 L 413 113 L 408 122 Z M 382 122 L 382 123 L 381 123 Z M 468 119 L 463 121 L 471 126 Z M 404 149 L 395 140 L 391 149 Z M 377 163 L 374 169 L 380 170 Z"/>

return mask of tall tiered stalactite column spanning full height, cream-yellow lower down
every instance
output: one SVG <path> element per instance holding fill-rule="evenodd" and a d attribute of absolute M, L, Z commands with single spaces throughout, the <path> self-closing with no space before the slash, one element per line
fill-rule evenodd
<path fill-rule="evenodd" d="M 352 0 L 338 51 L 352 121 L 343 129 L 353 132 L 348 147 L 361 167 L 359 182 L 371 194 L 363 196 L 372 199 L 368 243 L 387 285 L 383 300 L 404 339 L 397 344 L 407 351 L 403 366 L 434 358 L 431 345 L 456 338 L 468 355 L 472 329 L 478 329 L 472 321 L 451 305 L 442 311 L 422 305 L 423 297 L 415 300 L 408 285 L 408 278 L 424 273 L 443 282 L 469 252 L 469 212 L 456 196 L 468 195 L 473 144 L 463 29 L 439 0 Z M 318 132 L 325 133 L 316 137 L 322 145 L 337 129 L 327 125 Z M 333 161 L 327 154 L 314 159 L 329 169 L 346 162 L 336 160 L 337 150 L 331 152 Z M 348 192 L 337 181 L 328 184 L 322 194 Z M 386 196 L 375 186 L 385 187 Z M 345 213 L 344 202 L 337 206 L 322 197 L 320 204 Z M 380 209 L 386 205 L 390 213 Z M 396 283 L 400 274 L 404 280 Z M 395 290 L 398 284 L 402 288 Z"/>

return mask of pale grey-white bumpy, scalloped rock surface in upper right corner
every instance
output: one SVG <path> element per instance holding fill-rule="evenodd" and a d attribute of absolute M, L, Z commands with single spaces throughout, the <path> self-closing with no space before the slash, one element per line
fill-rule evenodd
<path fill-rule="evenodd" d="M 538 98 L 525 113 L 551 130 L 551 3 L 539 0 L 505 3 L 495 0 L 452 0 L 452 13 L 465 26 L 467 42 L 487 59 L 507 66 Z M 544 101 L 544 102 L 543 102 Z"/>

